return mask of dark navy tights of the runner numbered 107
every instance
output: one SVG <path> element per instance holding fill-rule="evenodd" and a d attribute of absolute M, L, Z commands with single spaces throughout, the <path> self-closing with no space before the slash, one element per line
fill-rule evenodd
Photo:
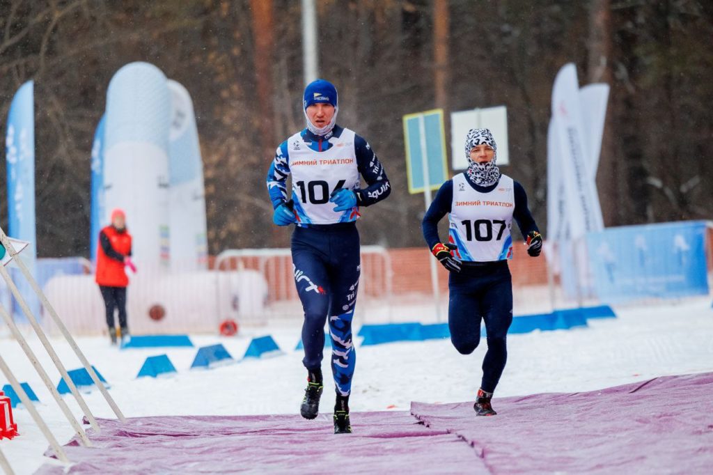
<path fill-rule="evenodd" d="M 481 342 L 486 324 L 488 351 L 483 359 L 483 391 L 495 391 L 508 360 L 506 337 L 513 322 L 513 283 L 507 261 L 466 267 L 448 282 L 448 326 L 451 342 L 461 354 L 471 354 Z"/>

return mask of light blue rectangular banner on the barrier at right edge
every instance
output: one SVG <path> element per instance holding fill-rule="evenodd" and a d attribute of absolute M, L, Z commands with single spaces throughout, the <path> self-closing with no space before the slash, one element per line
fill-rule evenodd
<path fill-rule="evenodd" d="M 597 297 L 612 303 L 708 295 L 705 249 L 709 225 L 687 221 L 588 234 Z"/>

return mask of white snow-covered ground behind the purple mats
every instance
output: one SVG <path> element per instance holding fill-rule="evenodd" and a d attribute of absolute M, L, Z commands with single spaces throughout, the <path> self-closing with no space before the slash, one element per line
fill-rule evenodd
<path fill-rule="evenodd" d="M 615 309 L 615 320 L 593 320 L 578 330 L 515 334 L 508 337 L 508 367 L 497 397 L 539 392 L 579 392 L 666 374 L 713 371 L 713 309 L 709 298 Z M 111 384 L 111 394 L 127 417 L 185 414 L 296 413 L 304 388 L 300 352 L 293 351 L 299 327 L 245 330 L 239 337 L 192 337 L 195 345 L 220 342 L 242 357 L 253 336 L 272 334 L 285 354 L 246 360 L 210 370 L 189 370 L 196 349 L 130 349 L 109 347 L 104 338 L 81 338 L 88 359 Z M 68 345 L 55 340 L 68 369 L 79 367 Z M 54 369 L 39 341 L 32 347 L 54 382 Z M 448 340 L 406 342 L 358 348 L 352 411 L 407 410 L 411 401 L 461 402 L 473 399 L 480 382 L 485 345 L 463 357 Z M 61 444 L 73 435 L 56 404 L 19 345 L 0 339 L 0 353 L 21 381 L 41 399 L 39 411 Z M 135 379 L 146 357 L 166 353 L 178 374 Z M 326 375 L 329 374 L 324 364 Z M 0 381 L 1 382 L 1 381 Z M 4 382 L 2 382 L 4 384 Z M 1 385 L 1 384 L 0 384 Z M 71 396 L 66 401 L 79 418 Z M 97 417 L 113 417 L 101 394 L 86 395 Z M 331 407 L 325 392 L 324 409 Z M 497 409 L 497 400 L 494 402 Z M 0 449 L 18 474 L 30 474 L 47 459 L 47 443 L 22 407 L 14 410 L 21 436 L 0 441 Z"/>

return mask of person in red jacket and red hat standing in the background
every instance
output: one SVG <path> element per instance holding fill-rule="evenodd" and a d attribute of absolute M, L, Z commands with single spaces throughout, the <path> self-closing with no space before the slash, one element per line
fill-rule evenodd
<path fill-rule="evenodd" d="M 101 290 L 106 306 L 106 325 L 111 343 L 116 344 L 114 311 L 118 310 L 121 341 L 127 342 L 129 331 L 126 323 L 126 287 L 129 284 L 125 267 L 135 272 L 131 262 L 131 235 L 126 230 L 126 215 L 116 209 L 111 213 L 111 225 L 99 233 L 96 259 L 96 283 Z"/>

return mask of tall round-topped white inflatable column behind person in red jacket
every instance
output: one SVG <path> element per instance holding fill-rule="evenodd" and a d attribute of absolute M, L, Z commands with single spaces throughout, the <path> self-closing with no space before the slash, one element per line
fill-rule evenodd
<path fill-rule="evenodd" d="M 111 78 L 104 132 L 105 219 L 126 213 L 133 257 L 143 268 L 170 266 L 168 79 L 149 63 L 129 63 Z"/>

